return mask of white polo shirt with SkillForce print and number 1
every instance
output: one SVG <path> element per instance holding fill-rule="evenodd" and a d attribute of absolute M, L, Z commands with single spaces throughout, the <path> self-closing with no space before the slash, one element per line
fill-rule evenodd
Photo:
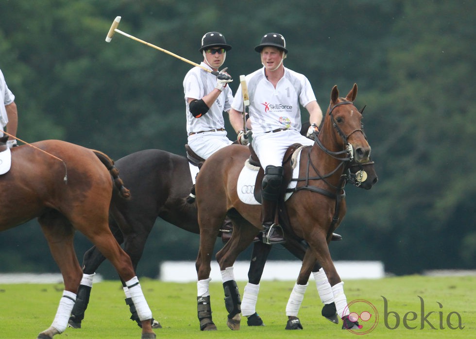
<path fill-rule="evenodd" d="M 300 73 L 284 68 L 284 76 L 276 88 L 266 79 L 265 68 L 260 68 L 246 76 L 250 98 L 249 114 L 253 134 L 270 132 L 278 128 L 301 131 L 301 108 L 316 101 L 309 80 Z M 231 105 L 243 111 L 241 85 Z"/>

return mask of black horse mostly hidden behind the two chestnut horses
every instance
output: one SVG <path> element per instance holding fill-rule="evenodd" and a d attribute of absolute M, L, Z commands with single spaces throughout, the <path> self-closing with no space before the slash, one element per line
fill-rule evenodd
<path fill-rule="evenodd" d="M 304 134 L 308 127 L 309 125 L 303 126 Z M 157 218 L 188 232 L 200 233 L 196 206 L 186 203 L 184 199 L 192 186 L 187 157 L 163 150 L 143 150 L 120 158 L 115 165 L 120 171 L 121 178 L 134 195 L 134 199 L 124 200 L 113 196 L 109 227 L 119 244 L 123 244 L 124 250 L 130 255 L 135 269 Z M 361 173 L 363 172 L 366 178 L 362 178 Z M 366 164 L 353 162 L 347 174 L 347 181 L 350 184 L 364 189 L 372 188 L 377 180 L 373 162 Z M 306 247 L 303 244 L 291 239 L 284 244 L 284 247 L 298 259 L 303 260 L 306 252 Z M 250 284 L 259 284 L 271 249 L 271 245 L 262 242 L 254 243 L 253 260 L 250 262 L 248 272 Z M 83 273 L 86 279 L 80 285 L 78 297 L 68 322 L 69 326 L 73 328 L 81 328 L 85 318 L 85 310 L 92 288 L 92 283 L 88 283 L 87 278 L 92 280 L 104 259 L 95 246 L 84 254 Z M 317 272 L 319 269 L 321 267 L 316 265 L 313 272 Z M 132 313 L 131 319 L 140 324 L 135 306 L 129 298 L 126 298 L 126 304 L 129 305 Z M 254 305 L 252 307 L 254 308 Z M 330 317 L 331 315 L 335 315 L 334 304 L 324 305 L 323 316 Z M 257 314 L 254 314 L 248 318 L 248 324 L 250 326 L 262 325 L 263 322 Z M 160 324 L 154 321 L 153 327 L 160 327 Z"/>

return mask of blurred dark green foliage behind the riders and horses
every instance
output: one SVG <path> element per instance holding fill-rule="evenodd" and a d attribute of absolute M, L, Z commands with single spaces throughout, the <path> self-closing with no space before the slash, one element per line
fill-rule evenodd
<path fill-rule="evenodd" d="M 197 63 L 202 35 L 220 31 L 233 46 L 224 66 L 234 91 L 240 74 L 260 67 L 261 36 L 282 33 L 285 65 L 306 74 L 323 110 L 336 84 L 345 95 L 356 82 L 357 106 L 367 104 L 380 181 L 371 191 L 348 187 L 333 258 L 383 260 L 399 274 L 474 269 L 474 13 L 473 1 L 10 0 L 0 2 L 0 68 L 26 141 L 63 139 L 115 159 L 148 148 L 185 154 L 182 81 L 191 66 L 119 34 L 106 43 L 113 19 Z M 196 257 L 197 235 L 157 223 L 139 274 Z M 2 233 L 1 270 L 57 270 L 40 232 L 31 221 Z M 89 246 L 77 237 L 80 261 Z M 276 248 L 271 258 L 291 257 Z M 101 270 L 113 278 L 110 265 Z"/>

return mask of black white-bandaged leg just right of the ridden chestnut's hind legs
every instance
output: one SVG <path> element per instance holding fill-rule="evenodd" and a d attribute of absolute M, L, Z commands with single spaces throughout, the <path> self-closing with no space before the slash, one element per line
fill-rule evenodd
<path fill-rule="evenodd" d="M 259 282 L 271 248 L 272 245 L 261 241 L 253 244 L 253 254 L 251 255 L 250 269 L 248 270 L 248 283 L 244 288 L 241 301 L 241 314 L 248 318 L 248 326 L 264 326 L 263 320 L 256 313 L 256 302 L 258 300 Z"/>

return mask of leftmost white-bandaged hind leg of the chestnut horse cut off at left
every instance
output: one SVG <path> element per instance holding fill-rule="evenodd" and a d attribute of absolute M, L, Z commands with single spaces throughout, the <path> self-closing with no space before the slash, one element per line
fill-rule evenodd
<path fill-rule="evenodd" d="M 38 336 L 38 338 L 52 338 L 55 334 L 64 332 L 68 326 L 82 272 L 74 252 L 74 229 L 69 221 L 57 211 L 47 213 L 38 221 L 65 283 L 65 290 L 51 326 Z"/>

